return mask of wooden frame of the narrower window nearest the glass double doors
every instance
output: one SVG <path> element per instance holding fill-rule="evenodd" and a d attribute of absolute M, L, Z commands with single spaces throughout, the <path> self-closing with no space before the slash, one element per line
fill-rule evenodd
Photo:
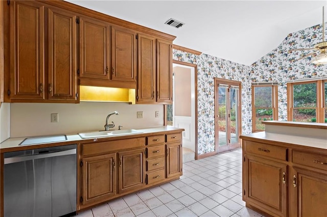
<path fill-rule="evenodd" d="M 255 85 L 252 84 L 252 132 L 260 132 L 260 131 L 265 131 L 265 130 L 260 130 L 260 129 L 256 129 L 256 109 L 257 107 L 255 107 L 255 95 L 254 95 L 254 89 L 255 87 L 271 87 L 271 104 L 272 107 L 258 107 L 258 108 L 262 108 L 262 109 L 272 109 L 272 119 L 273 120 L 278 120 L 278 86 L 277 85 Z"/>

